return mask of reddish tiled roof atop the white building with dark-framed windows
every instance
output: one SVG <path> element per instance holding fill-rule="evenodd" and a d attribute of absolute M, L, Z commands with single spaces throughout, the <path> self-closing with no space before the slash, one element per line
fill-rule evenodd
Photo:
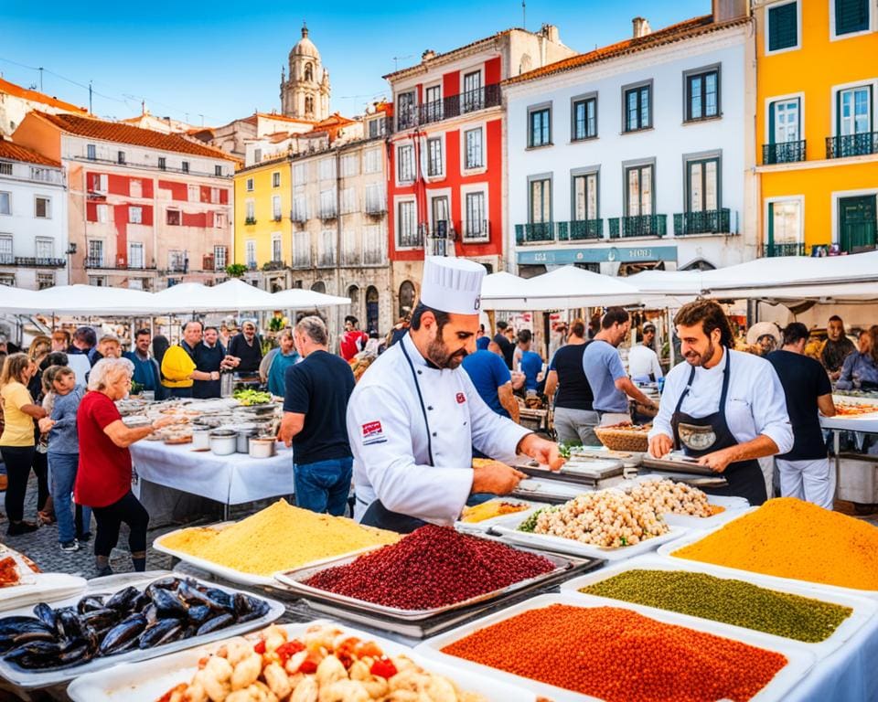
<path fill-rule="evenodd" d="M 645 37 L 626 39 L 624 41 L 616 42 L 616 44 L 610 44 L 606 47 L 595 48 L 594 51 L 578 54 L 571 58 L 564 58 L 555 63 L 550 63 L 548 66 L 543 66 L 540 69 L 529 70 L 527 73 L 522 73 L 519 76 L 513 76 L 512 78 L 504 80 L 503 85 L 522 83 L 527 80 L 551 76 L 554 73 L 562 73 L 566 70 L 578 69 L 582 66 L 598 63 L 599 61 L 604 61 L 608 58 L 616 58 L 637 51 L 643 51 L 648 48 L 660 47 L 682 39 L 699 37 L 703 34 L 709 34 L 720 29 L 725 29 L 726 27 L 744 25 L 748 22 L 750 22 L 749 17 L 740 17 L 725 22 L 714 22 L 712 15 L 692 17 L 691 19 L 679 22 L 676 25 L 658 29 Z"/>

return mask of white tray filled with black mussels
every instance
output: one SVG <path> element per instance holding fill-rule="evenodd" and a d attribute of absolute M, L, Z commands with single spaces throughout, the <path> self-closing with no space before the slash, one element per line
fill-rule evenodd
<path fill-rule="evenodd" d="M 21 687 L 53 686 L 246 633 L 283 612 L 279 602 L 162 571 L 91 580 L 77 596 L 0 616 L 0 676 Z"/>

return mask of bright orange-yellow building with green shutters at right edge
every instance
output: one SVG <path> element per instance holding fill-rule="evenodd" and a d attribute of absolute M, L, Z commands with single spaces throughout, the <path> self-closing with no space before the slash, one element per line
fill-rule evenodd
<path fill-rule="evenodd" d="M 878 3 L 755 0 L 767 256 L 878 239 Z"/>

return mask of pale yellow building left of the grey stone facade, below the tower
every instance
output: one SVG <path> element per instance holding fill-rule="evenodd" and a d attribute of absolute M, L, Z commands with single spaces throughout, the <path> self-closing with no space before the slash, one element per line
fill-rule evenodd
<path fill-rule="evenodd" d="M 251 271 L 292 261 L 290 158 L 283 156 L 235 174 L 234 262 Z"/>

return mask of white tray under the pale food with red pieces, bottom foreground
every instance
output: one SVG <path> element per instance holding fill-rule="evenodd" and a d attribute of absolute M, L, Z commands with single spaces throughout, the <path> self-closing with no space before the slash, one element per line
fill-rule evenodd
<path fill-rule="evenodd" d="M 328 620 L 316 622 L 284 624 L 282 628 L 290 637 L 301 636 L 312 624 L 330 623 Z M 467 692 L 477 692 L 492 702 L 534 702 L 534 695 L 519 686 L 512 686 L 483 675 L 475 675 L 463 665 L 449 664 L 428 659 L 412 651 L 411 648 L 396 644 L 380 636 L 360 632 L 345 624 L 339 624 L 345 633 L 357 636 L 363 641 L 374 641 L 386 654 L 406 654 L 416 664 L 432 673 L 444 675 Z M 228 637 L 226 637 L 228 638 Z M 187 683 L 198 670 L 198 660 L 216 651 L 220 643 L 199 646 L 176 654 L 164 655 L 144 663 L 117 665 L 111 670 L 82 675 L 68 687 L 67 694 L 74 702 L 155 702 L 169 689 L 180 683 Z"/>

